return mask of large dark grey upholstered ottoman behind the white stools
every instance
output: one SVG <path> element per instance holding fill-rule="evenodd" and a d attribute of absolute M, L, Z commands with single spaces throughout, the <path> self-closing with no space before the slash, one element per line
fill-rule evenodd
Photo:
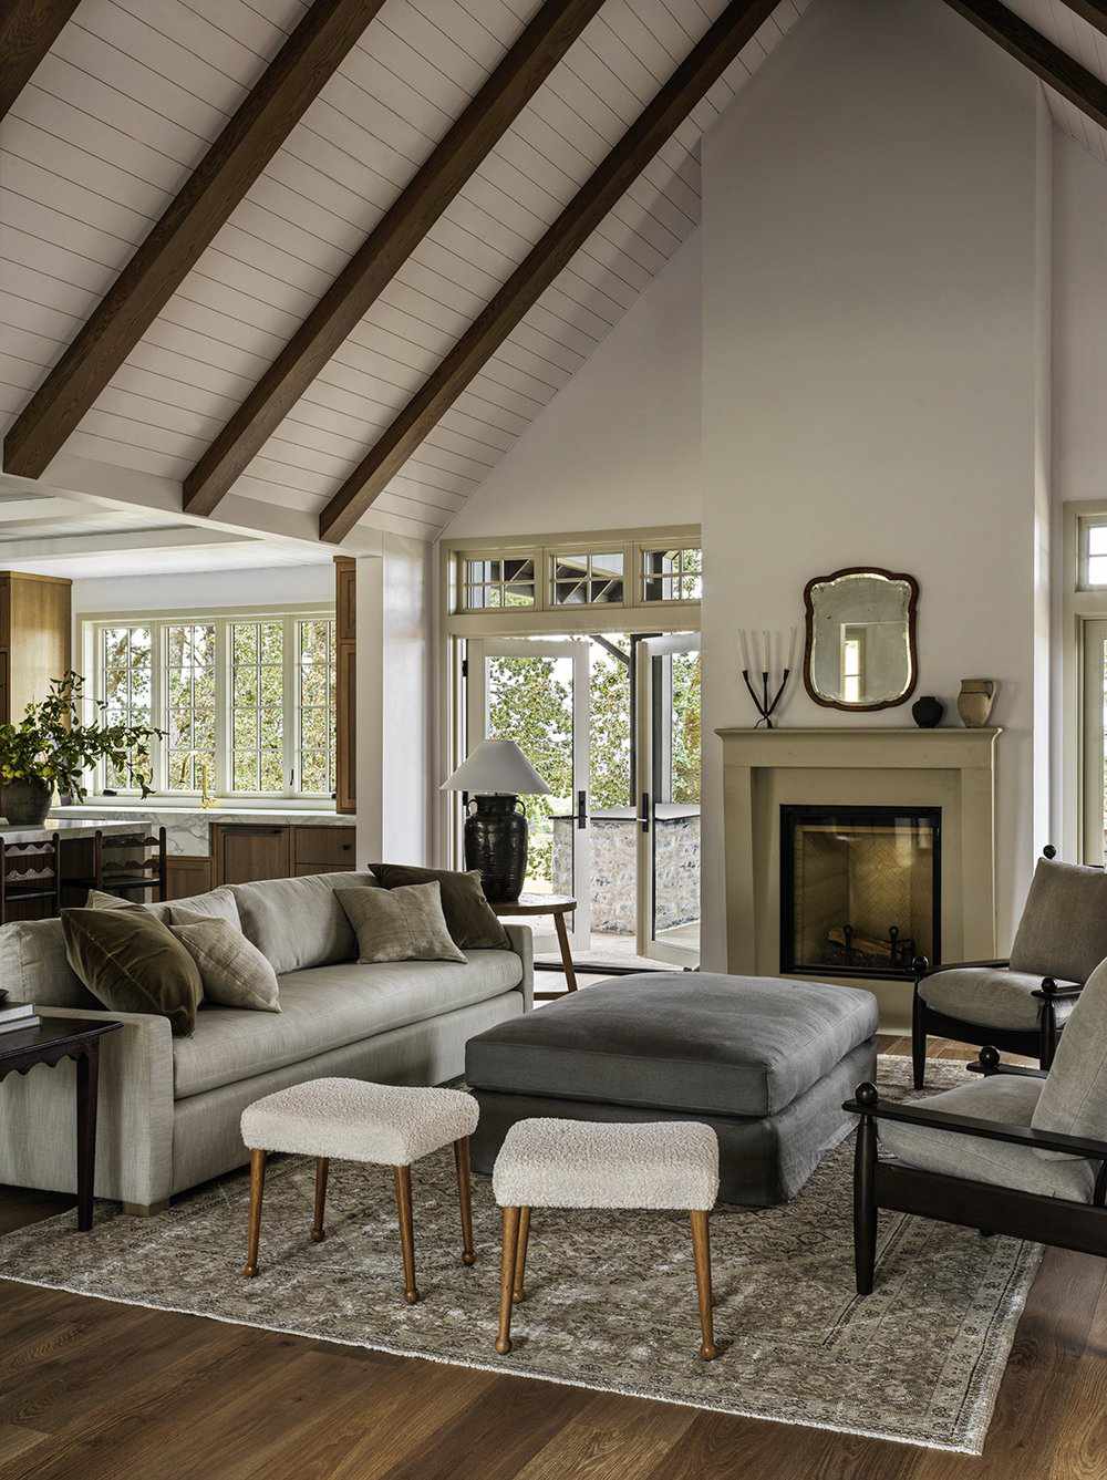
<path fill-rule="evenodd" d="M 773 977 L 644 972 L 586 987 L 469 1039 L 478 1172 L 509 1128 L 568 1120 L 701 1120 L 719 1138 L 722 1202 L 795 1197 L 842 1140 L 842 1110 L 876 1063 L 876 999 Z"/>

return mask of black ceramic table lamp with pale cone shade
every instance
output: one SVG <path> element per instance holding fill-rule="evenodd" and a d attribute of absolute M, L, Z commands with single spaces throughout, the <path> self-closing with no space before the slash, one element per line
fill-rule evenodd
<path fill-rule="evenodd" d="M 545 796 L 549 787 L 514 740 L 481 740 L 444 792 L 468 792 L 465 867 L 478 869 L 494 904 L 518 900 L 527 878 L 527 818 L 519 796 Z"/>

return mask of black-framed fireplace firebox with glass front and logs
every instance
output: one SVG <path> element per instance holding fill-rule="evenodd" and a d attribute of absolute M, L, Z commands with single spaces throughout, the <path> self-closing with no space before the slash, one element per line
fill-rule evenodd
<path fill-rule="evenodd" d="M 941 961 L 940 807 L 780 808 L 780 969 L 910 978 Z"/>

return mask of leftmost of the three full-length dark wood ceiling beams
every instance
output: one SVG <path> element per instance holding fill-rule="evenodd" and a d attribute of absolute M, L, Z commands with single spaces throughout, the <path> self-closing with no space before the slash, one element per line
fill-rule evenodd
<path fill-rule="evenodd" d="M 383 0 L 315 0 L 4 438 L 38 478 L 228 221 Z"/>

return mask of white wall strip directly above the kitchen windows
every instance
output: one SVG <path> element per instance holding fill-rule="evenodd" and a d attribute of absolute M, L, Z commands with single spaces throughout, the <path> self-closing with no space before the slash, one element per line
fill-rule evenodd
<path fill-rule="evenodd" d="M 334 567 L 274 565 L 263 570 L 186 571 L 179 576 L 115 576 L 74 580 L 73 611 L 161 611 L 286 605 L 300 601 L 334 602 Z"/>

